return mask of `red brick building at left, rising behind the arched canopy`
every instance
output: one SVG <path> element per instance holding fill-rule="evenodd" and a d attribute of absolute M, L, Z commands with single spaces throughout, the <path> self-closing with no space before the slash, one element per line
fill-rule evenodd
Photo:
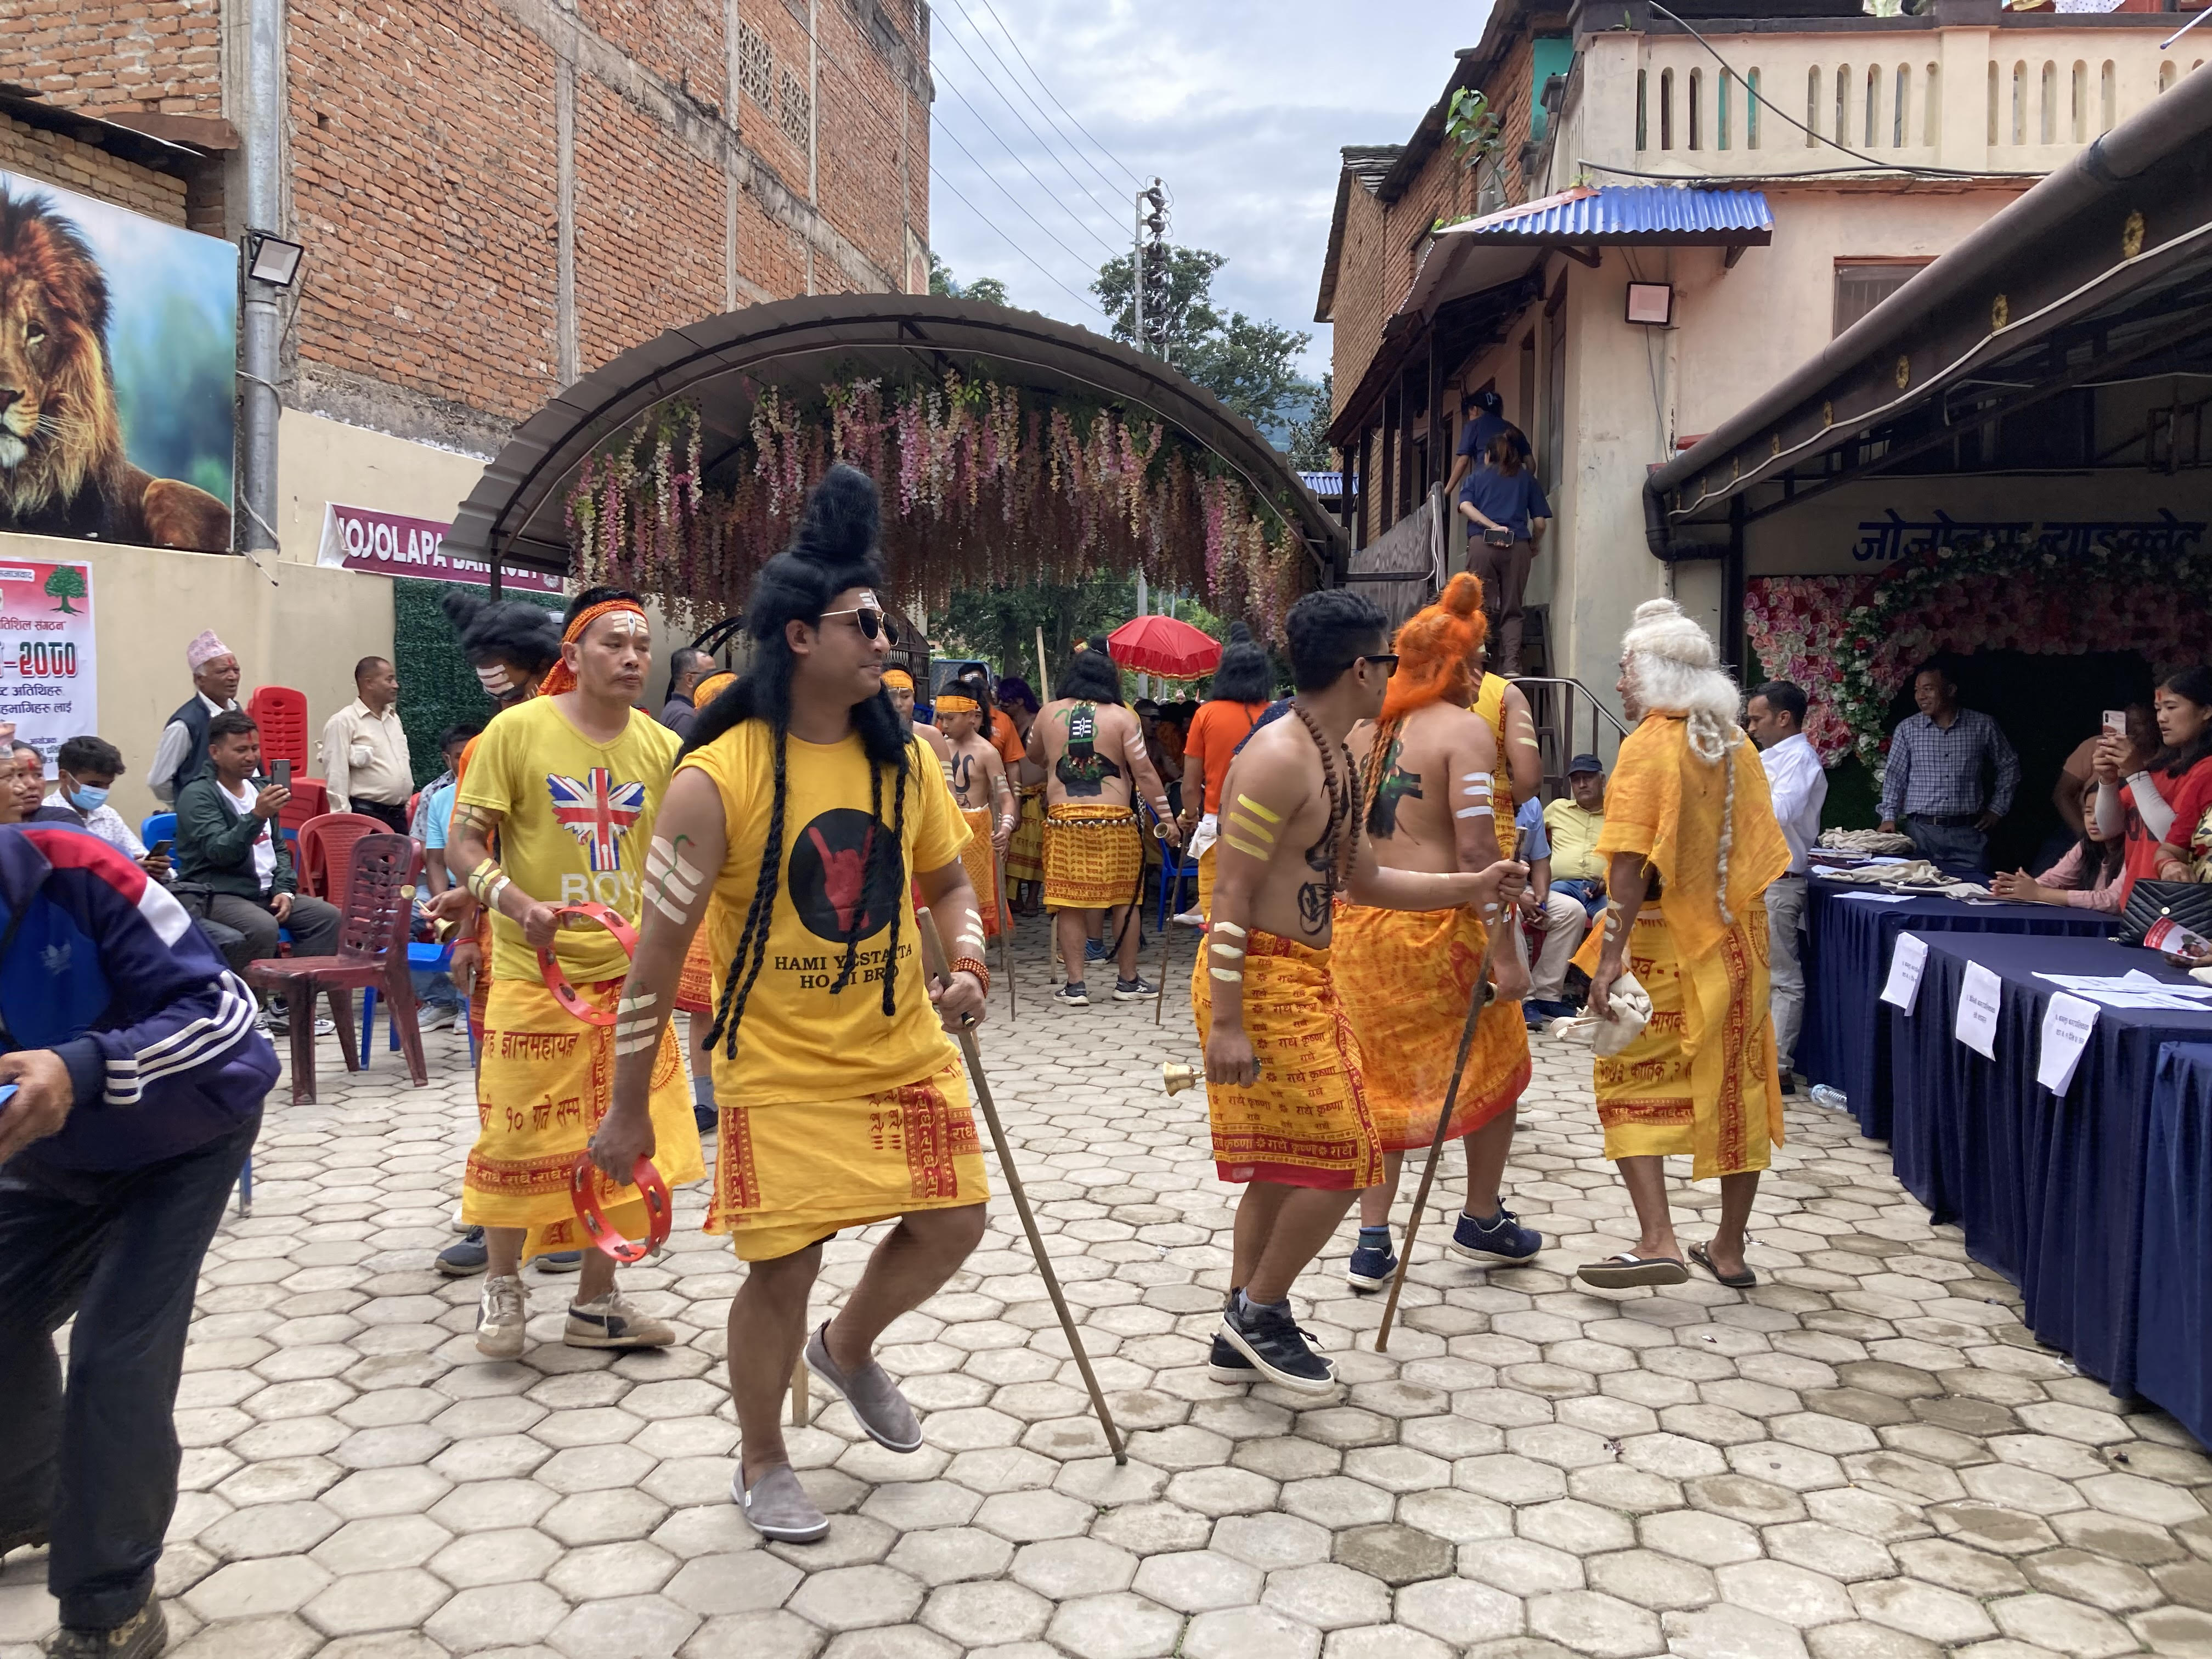
<path fill-rule="evenodd" d="M 482 458 L 670 325 L 927 290 L 922 0 L 292 0 L 283 66 L 288 557 L 321 495 L 451 515 L 374 434 Z M 234 237 L 243 97 L 243 0 L 20 0 L 0 166 Z"/>

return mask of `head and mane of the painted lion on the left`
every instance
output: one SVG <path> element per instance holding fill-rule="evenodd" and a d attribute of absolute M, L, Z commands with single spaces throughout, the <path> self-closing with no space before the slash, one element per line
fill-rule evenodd
<path fill-rule="evenodd" d="M 108 285 L 46 197 L 0 192 L 0 500 L 69 500 L 122 456 Z"/>

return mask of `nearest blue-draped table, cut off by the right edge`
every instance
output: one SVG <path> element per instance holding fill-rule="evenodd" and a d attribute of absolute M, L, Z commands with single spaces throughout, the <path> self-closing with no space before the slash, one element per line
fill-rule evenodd
<path fill-rule="evenodd" d="M 2212 1444 L 2212 1044 L 2168 1042 L 2150 1084 L 2135 1387 Z"/>

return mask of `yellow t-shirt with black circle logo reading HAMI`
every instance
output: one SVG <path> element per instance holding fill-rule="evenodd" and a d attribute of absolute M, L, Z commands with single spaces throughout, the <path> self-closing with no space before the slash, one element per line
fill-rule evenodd
<path fill-rule="evenodd" d="M 730 1106 L 854 1099 L 929 1077 L 958 1057 L 929 1002 L 914 922 L 914 872 L 958 863 L 969 838 L 942 768 L 918 739 L 907 739 L 902 856 L 891 860 L 872 849 L 889 845 L 898 785 L 885 770 L 880 816 L 872 818 L 858 732 L 838 743 L 785 737 L 785 745 L 783 856 L 768 956 L 737 1029 L 737 1057 L 714 1044 L 714 1097 Z M 730 834 L 706 916 L 719 1009 L 768 847 L 776 737 L 765 721 L 745 721 L 686 754 L 684 765 L 699 768 L 721 792 Z M 885 1020 L 894 914 L 898 1011 Z M 860 942 L 854 975 L 832 995 L 854 936 Z M 956 942 L 947 940 L 947 949 Z"/>

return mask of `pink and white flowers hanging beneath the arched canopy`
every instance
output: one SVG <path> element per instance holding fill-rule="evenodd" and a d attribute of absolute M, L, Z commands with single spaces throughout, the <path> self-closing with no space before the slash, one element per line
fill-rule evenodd
<path fill-rule="evenodd" d="M 712 482 L 684 398 L 586 458 L 566 500 L 580 582 L 619 582 L 686 622 L 734 613 L 807 491 L 847 460 L 878 480 L 891 588 L 916 613 L 953 588 L 1144 568 L 1276 637 L 1303 591 L 1310 560 L 1285 515 L 1157 420 L 958 372 L 896 389 L 843 378 L 807 403 L 745 389 L 745 438 Z"/>

